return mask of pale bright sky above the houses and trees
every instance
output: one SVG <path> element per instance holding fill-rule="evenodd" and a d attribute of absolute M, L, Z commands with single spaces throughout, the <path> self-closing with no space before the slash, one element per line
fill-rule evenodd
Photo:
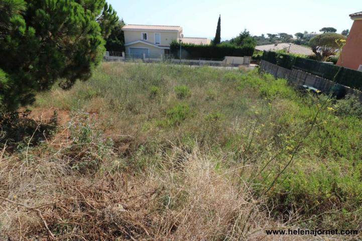
<path fill-rule="evenodd" d="M 185 37 L 215 36 L 221 15 L 221 39 L 244 29 L 252 35 L 350 29 L 349 14 L 362 11 L 361 0 L 107 0 L 126 24 L 181 26 Z"/>

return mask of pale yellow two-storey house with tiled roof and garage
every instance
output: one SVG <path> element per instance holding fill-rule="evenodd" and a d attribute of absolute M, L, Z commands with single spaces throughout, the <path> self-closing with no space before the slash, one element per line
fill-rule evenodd
<path fill-rule="evenodd" d="M 170 43 L 181 39 L 184 43 L 210 44 L 206 38 L 184 38 L 180 26 L 163 25 L 125 25 L 126 55 L 136 58 L 160 58 L 161 55 L 170 54 Z"/>

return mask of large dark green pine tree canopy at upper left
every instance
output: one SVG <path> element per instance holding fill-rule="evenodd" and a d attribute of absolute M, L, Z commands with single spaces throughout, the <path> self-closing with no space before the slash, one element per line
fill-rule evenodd
<path fill-rule="evenodd" d="M 118 18 L 105 0 L 2 0 L 0 20 L 0 106 L 15 110 L 88 79 Z"/>

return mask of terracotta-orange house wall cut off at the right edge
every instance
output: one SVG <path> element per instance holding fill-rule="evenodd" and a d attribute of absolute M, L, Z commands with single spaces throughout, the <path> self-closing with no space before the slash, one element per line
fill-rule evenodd
<path fill-rule="evenodd" d="M 353 24 L 337 65 L 358 69 L 359 65 L 362 65 L 362 12 L 351 14 L 349 17 Z"/>

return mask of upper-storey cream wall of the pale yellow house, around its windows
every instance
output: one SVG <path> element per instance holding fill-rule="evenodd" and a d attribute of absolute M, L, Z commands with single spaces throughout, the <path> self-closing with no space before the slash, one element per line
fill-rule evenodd
<path fill-rule="evenodd" d="M 159 33 L 161 37 L 161 43 L 157 44 L 160 46 L 170 46 L 170 43 L 173 40 L 180 38 L 181 32 L 150 32 L 150 31 L 125 31 L 125 43 L 135 42 L 137 40 L 142 40 L 142 33 L 147 33 L 147 40 L 151 44 L 155 44 L 155 33 Z M 145 40 L 143 40 L 145 41 Z"/>

